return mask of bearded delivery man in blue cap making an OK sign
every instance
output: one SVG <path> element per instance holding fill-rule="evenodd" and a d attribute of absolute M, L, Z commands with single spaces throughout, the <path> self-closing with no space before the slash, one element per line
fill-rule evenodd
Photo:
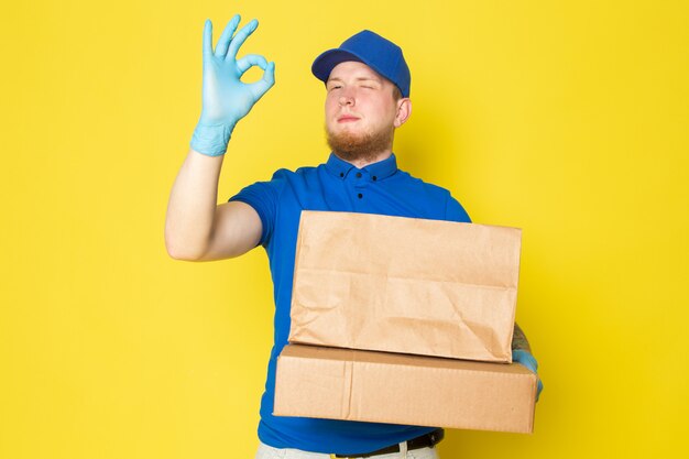
<path fill-rule="evenodd" d="M 274 64 L 263 56 L 237 59 L 255 30 L 251 21 L 237 33 L 234 17 L 211 47 L 211 24 L 204 30 L 204 107 L 189 151 L 173 186 L 165 242 L 179 260 L 238 256 L 262 245 L 270 261 L 275 297 L 275 342 L 261 403 L 258 458 L 391 458 L 414 451 L 436 458 L 442 430 L 402 426 L 273 416 L 276 358 L 287 343 L 296 236 L 302 210 L 336 210 L 469 222 L 462 206 L 446 189 L 397 168 L 392 152 L 395 129 L 412 112 L 411 75 L 402 50 L 363 31 L 339 48 L 316 58 L 314 75 L 326 84 L 326 129 L 330 156 L 317 167 L 280 170 L 270 182 L 250 185 L 217 206 L 218 177 L 231 132 L 273 86 Z M 251 66 L 263 78 L 243 84 Z M 527 343 L 515 328 L 515 342 Z M 528 361 L 535 371 L 531 353 Z M 518 359 L 515 359 L 518 360 Z M 533 360 L 533 361 L 532 361 Z"/>

